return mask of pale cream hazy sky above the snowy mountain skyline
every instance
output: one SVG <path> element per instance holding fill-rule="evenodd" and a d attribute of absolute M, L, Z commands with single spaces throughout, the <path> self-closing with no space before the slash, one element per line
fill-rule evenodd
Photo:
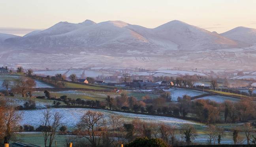
<path fill-rule="evenodd" d="M 24 35 L 60 21 L 86 19 L 147 28 L 181 20 L 222 33 L 237 26 L 256 28 L 256 0 L 0 0 L 2 33 Z"/>

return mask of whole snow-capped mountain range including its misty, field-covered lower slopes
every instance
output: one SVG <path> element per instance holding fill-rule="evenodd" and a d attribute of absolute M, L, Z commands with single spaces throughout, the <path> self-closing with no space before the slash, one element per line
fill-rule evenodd
<path fill-rule="evenodd" d="M 218 34 L 178 20 L 152 29 L 122 21 L 59 22 L 23 37 L 0 34 L 0 66 L 188 70 L 209 69 L 213 65 L 220 69 L 256 70 L 254 32 L 255 29 L 239 27 Z"/>

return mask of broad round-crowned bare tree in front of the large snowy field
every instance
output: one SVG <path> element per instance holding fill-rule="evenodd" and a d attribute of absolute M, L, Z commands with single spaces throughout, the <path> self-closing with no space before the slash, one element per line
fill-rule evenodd
<path fill-rule="evenodd" d="M 104 114 L 96 111 L 87 111 L 77 123 L 79 135 L 82 135 L 92 147 L 98 147 L 102 136 L 101 129 L 106 126 Z"/>

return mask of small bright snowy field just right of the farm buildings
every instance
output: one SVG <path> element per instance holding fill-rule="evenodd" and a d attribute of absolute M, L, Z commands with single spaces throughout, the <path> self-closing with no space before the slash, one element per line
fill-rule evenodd
<path fill-rule="evenodd" d="M 197 90 L 190 90 L 190 89 L 177 89 L 177 88 L 171 88 L 169 90 L 164 90 L 164 91 L 167 91 L 167 92 L 171 92 L 171 100 L 172 101 L 177 101 L 177 98 L 178 97 L 183 97 L 184 95 L 188 95 L 188 96 L 199 96 L 201 94 L 204 94 L 203 92 L 201 91 L 197 91 Z M 206 92 L 205 92 L 206 94 Z"/>

